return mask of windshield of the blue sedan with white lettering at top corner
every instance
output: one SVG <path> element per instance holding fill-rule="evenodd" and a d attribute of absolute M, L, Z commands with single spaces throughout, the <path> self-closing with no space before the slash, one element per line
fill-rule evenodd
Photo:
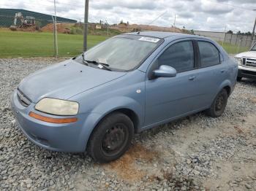
<path fill-rule="evenodd" d="M 110 69 L 129 71 L 144 61 L 160 42 L 160 39 L 146 36 L 118 36 L 85 52 L 84 60 L 105 63 Z"/>

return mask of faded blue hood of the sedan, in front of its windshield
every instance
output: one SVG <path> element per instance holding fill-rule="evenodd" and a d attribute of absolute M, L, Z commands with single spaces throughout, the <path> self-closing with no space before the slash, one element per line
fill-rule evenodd
<path fill-rule="evenodd" d="M 18 88 L 34 103 L 45 97 L 68 99 L 124 74 L 68 60 L 34 72 L 23 79 Z"/>

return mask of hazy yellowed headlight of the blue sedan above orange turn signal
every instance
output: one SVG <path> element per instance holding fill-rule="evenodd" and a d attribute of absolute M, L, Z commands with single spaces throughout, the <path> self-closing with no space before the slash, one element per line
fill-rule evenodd
<path fill-rule="evenodd" d="M 75 101 L 66 101 L 55 98 L 42 98 L 35 106 L 40 112 L 56 115 L 78 114 L 79 104 Z"/>

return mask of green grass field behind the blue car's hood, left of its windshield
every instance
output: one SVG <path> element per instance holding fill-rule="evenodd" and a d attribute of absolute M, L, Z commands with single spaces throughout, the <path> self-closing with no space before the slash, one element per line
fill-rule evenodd
<path fill-rule="evenodd" d="M 88 36 L 88 47 L 108 36 Z M 78 55 L 83 50 L 83 35 L 58 34 L 59 56 Z M 0 29 L 0 58 L 53 56 L 53 34 Z"/>

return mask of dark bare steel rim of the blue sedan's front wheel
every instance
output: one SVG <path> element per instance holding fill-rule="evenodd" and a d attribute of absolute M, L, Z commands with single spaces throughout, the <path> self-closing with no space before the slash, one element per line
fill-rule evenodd
<path fill-rule="evenodd" d="M 124 147 L 127 141 L 127 131 L 123 124 L 109 128 L 102 140 L 102 150 L 107 155 L 115 155 Z"/>

